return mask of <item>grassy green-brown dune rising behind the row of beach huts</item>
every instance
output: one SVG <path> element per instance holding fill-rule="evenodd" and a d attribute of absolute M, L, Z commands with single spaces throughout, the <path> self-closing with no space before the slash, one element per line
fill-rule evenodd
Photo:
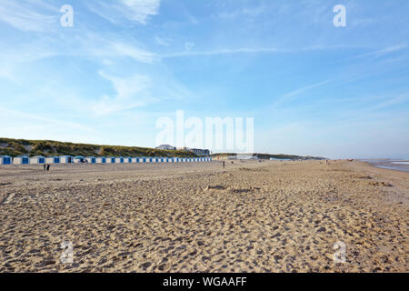
<path fill-rule="evenodd" d="M 180 156 L 196 157 L 185 151 L 138 146 L 100 146 L 0 137 L 0 156 Z"/>

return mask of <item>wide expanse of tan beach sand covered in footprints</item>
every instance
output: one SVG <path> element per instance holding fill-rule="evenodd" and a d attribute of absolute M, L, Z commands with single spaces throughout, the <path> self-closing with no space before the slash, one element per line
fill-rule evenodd
<path fill-rule="evenodd" d="M 408 272 L 408 201 L 357 161 L 0 166 L 0 272 Z"/>

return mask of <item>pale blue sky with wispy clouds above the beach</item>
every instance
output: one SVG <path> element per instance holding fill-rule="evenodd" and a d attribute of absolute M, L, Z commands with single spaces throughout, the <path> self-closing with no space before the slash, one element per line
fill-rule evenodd
<path fill-rule="evenodd" d="M 157 146 L 155 121 L 180 109 L 254 117 L 255 152 L 409 158 L 408 13 L 407 0 L 1 0 L 0 136 Z"/>

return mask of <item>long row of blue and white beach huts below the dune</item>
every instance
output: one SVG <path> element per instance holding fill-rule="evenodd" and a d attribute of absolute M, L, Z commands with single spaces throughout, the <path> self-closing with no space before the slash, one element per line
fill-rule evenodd
<path fill-rule="evenodd" d="M 211 157 L 149 157 L 149 156 L 0 156 L 0 165 L 45 164 L 134 164 L 134 163 L 187 163 L 210 162 Z"/>

